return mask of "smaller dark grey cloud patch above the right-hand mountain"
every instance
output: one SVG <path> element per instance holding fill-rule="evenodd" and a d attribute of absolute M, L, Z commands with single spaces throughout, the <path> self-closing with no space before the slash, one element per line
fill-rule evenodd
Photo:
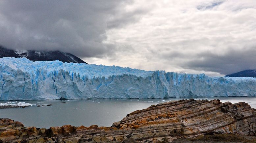
<path fill-rule="evenodd" d="M 245 69 L 256 69 L 256 47 L 240 50 L 229 49 L 224 54 L 203 52 L 194 59 L 183 63 L 183 67 L 194 70 L 215 71 L 221 74 L 231 74 Z"/>

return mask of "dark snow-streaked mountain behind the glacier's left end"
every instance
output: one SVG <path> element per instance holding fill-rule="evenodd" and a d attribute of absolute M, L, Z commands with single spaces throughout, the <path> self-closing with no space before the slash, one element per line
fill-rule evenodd
<path fill-rule="evenodd" d="M 33 50 L 10 50 L 0 46 L 0 58 L 2 57 L 25 57 L 31 61 L 55 61 L 67 63 L 86 63 L 79 57 L 61 51 L 33 51 Z M 87 64 L 87 63 L 86 63 Z"/>

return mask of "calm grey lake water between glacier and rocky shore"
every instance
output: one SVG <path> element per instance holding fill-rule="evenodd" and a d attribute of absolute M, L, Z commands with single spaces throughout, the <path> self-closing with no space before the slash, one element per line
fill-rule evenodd
<path fill-rule="evenodd" d="M 0 118 L 10 118 L 22 122 L 25 126 L 36 126 L 38 128 L 49 128 L 52 126 L 112 126 L 112 123 L 120 121 L 128 113 L 147 108 L 151 105 L 171 100 L 190 98 L 168 98 L 168 99 L 83 99 L 65 100 L 33 100 L 20 101 L 27 103 L 43 102 L 41 104 L 52 104 L 52 106 L 31 106 L 27 108 L 0 109 Z M 221 102 L 246 102 L 256 109 L 256 97 L 214 97 L 194 99 L 220 99 Z M 0 101 L 4 103 L 6 101 Z"/>

